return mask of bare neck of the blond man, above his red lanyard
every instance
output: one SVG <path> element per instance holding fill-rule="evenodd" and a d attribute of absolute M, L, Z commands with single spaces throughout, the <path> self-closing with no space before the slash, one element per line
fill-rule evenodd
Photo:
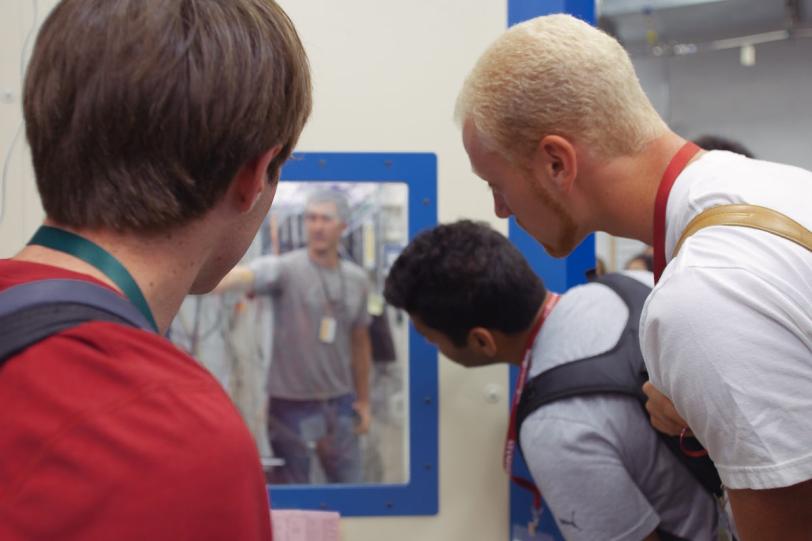
<path fill-rule="evenodd" d="M 585 176 L 593 183 L 590 211 L 594 228 L 651 244 L 657 190 L 668 164 L 684 144 L 685 139 L 667 132 L 639 154 L 591 167 Z"/>

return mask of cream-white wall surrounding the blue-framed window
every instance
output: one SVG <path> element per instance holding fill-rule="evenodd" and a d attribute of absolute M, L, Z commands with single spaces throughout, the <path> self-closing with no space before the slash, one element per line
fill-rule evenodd
<path fill-rule="evenodd" d="M 40 1 L 40 11 L 55 0 Z M 496 222 L 484 183 L 474 179 L 452 121 L 456 93 L 475 59 L 505 28 L 505 0 L 281 0 L 300 31 L 314 74 L 315 110 L 303 151 L 427 151 L 439 159 L 439 214 Z M 0 3 L 0 149 L 20 118 L 19 54 L 31 0 Z M 41 18 L 41 17 L 40 17 Z M 18 250 L 42 218 L 24 141 L 18 141 L 0 222 L 0 257 Z M 357 518 L 343 522 L 345 541 L 498 540 L 508 529 L 501 445 L 507 370 L 463 370 L 440 363 L 440 513 L 434 517 Z M 501 399 L 485 400 L 496 383 Z"/>

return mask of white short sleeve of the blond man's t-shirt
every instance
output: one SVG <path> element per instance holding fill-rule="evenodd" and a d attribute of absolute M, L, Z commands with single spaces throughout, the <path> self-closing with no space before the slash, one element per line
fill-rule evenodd
<path fill-rule="evenodd" d="M 812 319 L 799 291 L 737 268 L 669 274 L 643 313 L 652 382 L 729 488 L 812 478 Z"/>

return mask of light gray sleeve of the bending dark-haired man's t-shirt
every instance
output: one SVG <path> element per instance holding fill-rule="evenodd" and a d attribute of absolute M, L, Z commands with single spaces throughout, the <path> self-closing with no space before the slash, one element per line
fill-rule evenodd
<path fill-rule="evenodd" d="M 654 531 L 660 517 L 623 464 L 620 442 L 583 420 L 543 413 L 522 425 L 522 450 L 562 535 L 640 541 Z"/>

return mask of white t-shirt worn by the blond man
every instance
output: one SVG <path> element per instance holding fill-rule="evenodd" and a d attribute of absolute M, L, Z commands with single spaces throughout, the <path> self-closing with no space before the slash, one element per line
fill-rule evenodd
<path fill-rule="evenodd" d="M 812 173 L 730 152 L 700 157 L 668 199 L 667 259 L 694 216 L 735 203 L 812 229 Z M 652 382 L 727 487 L 812 478 L 812 252 L 746 227 L 700 230 L 649 297 L 640 340 Z"/>

